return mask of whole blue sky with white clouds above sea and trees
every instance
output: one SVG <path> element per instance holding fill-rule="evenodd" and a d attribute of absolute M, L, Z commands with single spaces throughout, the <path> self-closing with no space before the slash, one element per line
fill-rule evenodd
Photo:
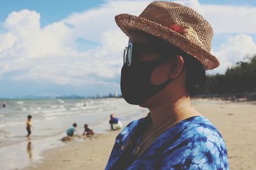
<path fill-rule="evenodd" d="M 0 98 L 120 94 L 127 36 L 120 13 L 140 15 L 152 1 L 0 1 Z M 207 74 L 256 53 L 256 1 L 177 0 L 212 25 L 211 52 L 220 60 Z"/>

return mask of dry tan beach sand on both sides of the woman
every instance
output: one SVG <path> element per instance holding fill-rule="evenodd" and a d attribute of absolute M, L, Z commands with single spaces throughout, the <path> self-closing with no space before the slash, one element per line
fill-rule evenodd
<path fill-rule="evenodd" d="M 256 102 L 194 101 L 195 107 L 221 132 L 228 149 L 230 169 L 256 167 Z M 25 169 L 104 169 L 118 131 L 97 134 L 47 150 L 44 159 Z"/>

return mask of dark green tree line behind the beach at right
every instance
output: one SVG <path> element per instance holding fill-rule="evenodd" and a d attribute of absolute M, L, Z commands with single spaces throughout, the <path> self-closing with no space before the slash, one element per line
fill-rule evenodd
<path fill-rule="evenodd" d="M 225 74 L 207 75 L 204 94 L 256 92 L 256 55 L 228 67 Z M 200 93 L 202 94 L 202 92 Z"/>

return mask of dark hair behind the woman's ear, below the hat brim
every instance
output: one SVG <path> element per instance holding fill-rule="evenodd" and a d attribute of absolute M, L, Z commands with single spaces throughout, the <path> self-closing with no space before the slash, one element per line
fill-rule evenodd
<path fill-rule="evenodd" d="M 183 52 L 182 57 L 186 67 L 186 89 L 189 96 L 193 97 L 205 90 L 205 69 L 200 61 L 188 53 Z"/>

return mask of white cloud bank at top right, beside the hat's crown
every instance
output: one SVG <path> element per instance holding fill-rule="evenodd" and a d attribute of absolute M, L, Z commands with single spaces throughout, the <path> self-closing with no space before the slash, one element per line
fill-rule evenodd
<path fill-rule="evenodd" d="M 189 6 L 203 15 L 212 25 L 214 33 L 256 33 L 255 6 L 200 4 L 198 0 L 176 2 Z"/>

